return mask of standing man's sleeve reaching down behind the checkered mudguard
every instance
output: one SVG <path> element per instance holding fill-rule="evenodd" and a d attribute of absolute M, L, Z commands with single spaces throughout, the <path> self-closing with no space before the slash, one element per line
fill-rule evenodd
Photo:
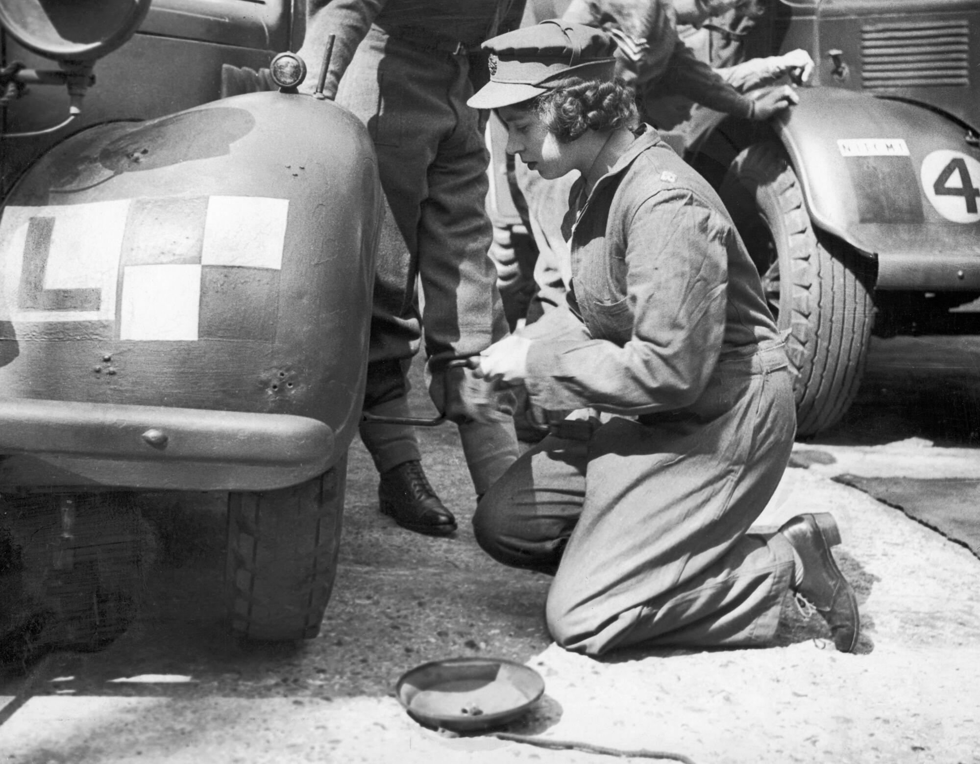
<path fill-rule="evenodd" d="M 319 69 L 330 34 L 335 34 L 330 71 L 323 92 L 328 98 L 337 94 L 340 78 L 354 58 L 354 52 L 368 33 L 374 19 L 388 0 L 310 0 L 306 38 L 299 55 L 306 62 L 307 78 L 302 89 L 313 92 L 319 81 Z"/>

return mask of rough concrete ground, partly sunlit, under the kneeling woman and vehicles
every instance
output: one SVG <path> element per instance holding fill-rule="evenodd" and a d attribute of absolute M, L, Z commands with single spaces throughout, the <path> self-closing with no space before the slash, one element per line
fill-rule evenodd
<path fill-rule="evenodd" d="M 698 764 L 980 762 L 980 560 L 834 480 L 975 482 L 978 362 L 980 341 L 962 337 L 877 342 L 858 404 L 832 433 L 797 444 L 760 518 L 837 518 L 864 625 L 858 654 L 836 652 L 822 621 L 789 601 L 765 649 L 604 661 L 564 652 L 542 623 L 548 579 L 475 546 L 466 469 L 445 427 L 423 433 L 425 461 L 460 532 L 426 538 L 380 516 L 356 446 L 333 600 L 320 636 L 302 645 L 242 645 L 221 632 L 219 497 L 146 500 L 157 557 L 142 615 L 103 652 L 0 675 L 0 695 L 13 698 L 0 709 L 0 762 L 605 760 L 419 727 L 393 697 L 395 680 L 456 655 L 535 668 L 545 697 L 511 729 L 546 739 L 665 749 Z M 111 682 L 137 675 L 189 681 Z"/>

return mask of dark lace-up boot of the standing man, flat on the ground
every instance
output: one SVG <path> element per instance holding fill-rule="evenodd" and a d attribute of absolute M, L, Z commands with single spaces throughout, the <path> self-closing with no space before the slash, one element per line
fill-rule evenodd
<path fill-rule="evenodd" d="M 381 512 L 409 531 L 426 535 L 456 531 L 456 518 L 432 490 L 418 461 L 403 462 L 382 474 L 377 498 Z"/>

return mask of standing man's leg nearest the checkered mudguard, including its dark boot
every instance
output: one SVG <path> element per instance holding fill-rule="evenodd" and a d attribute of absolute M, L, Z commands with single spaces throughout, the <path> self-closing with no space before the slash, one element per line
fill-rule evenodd
<path fill-rule="evenodd" d="M 432 132 L 423 113 L 431 102 L 425 92 L 429 83 L 405 76 L 405 70 L 418 69 L 415 59 L 421 55 L 372 28 L 337 91 L 337 102 L 368 127 L 389 202 L 378 248 L 364 404 L 365 411 L 376 416 L 410 416 L 406 375 L 421 331 L 416 230 L 426 193 L 426 168 L 438 142 L 431 134 L 417 134 L 426 128 Z M 381 511 L 417 533 L 453 533 L 456 519 L 425 477 L 415 429 L 365 424 L 361 437 L 381 476 Z"/>

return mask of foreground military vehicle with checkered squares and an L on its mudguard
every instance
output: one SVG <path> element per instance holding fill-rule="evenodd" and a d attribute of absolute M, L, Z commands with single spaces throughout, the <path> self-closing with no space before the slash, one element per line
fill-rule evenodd
<path fill-rule="evenodd" d="M 291 0 L 0 5 L 0 507 L 33 529 L 0 547 L 41 542 L 60 644 L 131 618 L 139 491 L 226 493 L 235 634 L 319 631 L 383 201 L 367 129 L 297 92 L 304 21 Z"/>

